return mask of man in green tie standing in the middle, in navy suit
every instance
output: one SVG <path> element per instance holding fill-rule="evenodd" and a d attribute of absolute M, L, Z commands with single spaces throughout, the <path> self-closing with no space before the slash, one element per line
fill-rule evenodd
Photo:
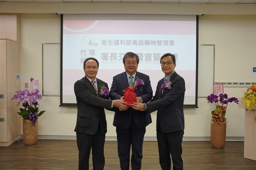
<path fill-rule="evenodd" d="M 134 81 L 143 80 L 144 85 L 134 92 L 137 94 L 137 102 L 148 102 L 152 99 L 153 91 L 149 77 L 137 71 L 139 57 L 128 52 L 123 58 L 125 72 L 113 77 L 110 88 L 110 99 L 123 99 L 126 88 L 134 85 Z M 129 80 L 128 80 L 129 79 Z M 119 108 L 115 112 L 113 125 L 116 126 L 117 149 L 122 170 L 129 170 L 130 148 L 132 145 L 132 170 L 140 170 L 142 159 L 142 144 L 146 132 L 146 126 L 152 122 L 148 112 L 134 110 L 131 107 Z"/>

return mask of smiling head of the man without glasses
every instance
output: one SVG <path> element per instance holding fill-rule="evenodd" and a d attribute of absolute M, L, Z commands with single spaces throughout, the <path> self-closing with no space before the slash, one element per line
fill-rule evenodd
<path fill-rule="evenodd" d="M 84 66 L 84 74 L 94 80 L 98 73 L 98 64 L 95 60 L 87 60 Z"/>

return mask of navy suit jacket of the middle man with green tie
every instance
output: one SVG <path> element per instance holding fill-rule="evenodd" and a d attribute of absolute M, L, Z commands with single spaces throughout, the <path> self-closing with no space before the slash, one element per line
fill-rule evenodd
<path fill-rule="evenodd" d="M 135 75 L 135 80 L 137 78 L 142 79 L 144 81 L 144 85 L 141 86 L 141 90 L 140 88 L 138 88 L 137 90 L 134 90 L 134 92 L 137 94 L 137 97 L 141 97 L 143 103 L 147 103 L 153 97 L 153 91 L 150 85 L 149 76 L 137 71 Z M 120 99 L 122 96 L 124 96 L 123 90 L 128 87 L 129 83 L 126 72 L 114 76 L 109 93 L 110 99 Z M 149 123 L 152 122 L 150 113 L 148 113 L 147 111 L 143 112 L 134 110 L 132 107 L 130 107 L 125 111 L 115 112 L 113 125 L 121 129 L 127 129 L 131 123 L 132 117 L 136 126 L 140 129 L 146 127 Z"/>

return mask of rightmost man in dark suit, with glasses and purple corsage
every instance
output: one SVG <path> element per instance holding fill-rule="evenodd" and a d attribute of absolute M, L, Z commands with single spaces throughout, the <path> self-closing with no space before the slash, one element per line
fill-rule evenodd
<path fill-rule="evenodd" d="M 176 67 L 174 55 L 170 53 L 164 54 L 160 59 L 160 63 L 165 78 L 158 82 L 155 96 L 149 103 L 145 104 L 145 107 L 149 113 L 157 110 L 156 137 L 159 162 L 162 169 L 171 169 L 171 153 L 173 169 L 181 170 L 183 169 L 181 143 L 184 134 L 183 103 L 185 81 L 174 71 Z M 171 85 L 170 89 L 168 89 L 168 83 Z M 144 106 L 142 103 L 131 105 L 136 110 L 143 110 Z"/>

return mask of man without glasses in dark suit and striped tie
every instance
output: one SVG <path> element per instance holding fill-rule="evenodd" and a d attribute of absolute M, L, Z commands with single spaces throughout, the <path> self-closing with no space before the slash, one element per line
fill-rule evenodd
<path fill-rule="evenodd" d="M 104 107 L 111 109 L 116 106 L 124 109 L 123 104 L 126 104 L 121 100 L 109 100 L 108 96 L 100 94 L 101 87 L 108 88 L 108 84 L 96 78 L 98 68 L 97 59 L 87 58 L 84 61 L 85 77 L 76 81 L 74 85 L 77 102 L 75 132 L 79 151 L 79 170 L 89 170 L 91 148 L 93 169 L 103 170 L 105 165 L 104 143 L 107 133 Z"/>

